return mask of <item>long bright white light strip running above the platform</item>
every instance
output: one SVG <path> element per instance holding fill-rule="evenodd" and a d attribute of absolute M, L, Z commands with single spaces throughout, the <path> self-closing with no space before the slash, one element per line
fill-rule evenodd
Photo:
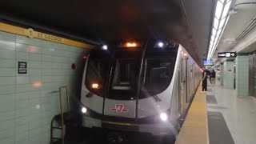
<path fill-rule="evenodd" d="M 213 29 L 211 30 L 210 44 L 207 54 L 207 60 L 212 58 L 216 47 L 218 46 L 219 39 L 229 21 L 230 16 L 228 15 L 230 10 L 230 4 L 232 0 L 218 0 L 214 14 Z"/>

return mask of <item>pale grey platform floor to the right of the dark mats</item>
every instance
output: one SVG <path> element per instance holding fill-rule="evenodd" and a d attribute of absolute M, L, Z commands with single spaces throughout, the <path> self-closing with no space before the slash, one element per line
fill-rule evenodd
<path fill-rule="evenodd" d="M 222 113 L 235 144 L 255 144 L 256 99 L 237 97 L 236 90 L 224 88 L 218 81 L 209 87 L 212 92 L 206 94 L 214 95 L 218 103 L 208 104 L 208 111 Z"/>

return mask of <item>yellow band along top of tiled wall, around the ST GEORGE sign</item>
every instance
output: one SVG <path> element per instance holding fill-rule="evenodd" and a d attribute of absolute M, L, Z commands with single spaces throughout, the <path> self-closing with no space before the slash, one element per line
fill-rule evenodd
<path fill-rule="evenodd" d="M 32 30 L 32 29 L 24 29 L 24 28 L 19 27 L 19 26 L 13 26 L 13 25 L 9 25 L 9 24 L 0 22 L 0 31 L 4 31 L 6 33 L 28 36 L 27 32 L 26 32 L 27 30 Z M 40 34 L 45 34 L 45 33 L 38 32 L 38 31 L 33 31 L 33 32 L 40 33 Z M 84 49 L 93 49 L 94 48 L 94 45 L 90 45 L 90 44 L 87 44 L 87 43 L 84 43 L 84 42 L 77 42 L 77 41 L 74 41 L 74 40 L 71 40 L 71 39 L 68 39 L 68 38 L 61 38 L 61 37 L 54 36 L 54 35 L 51 35 L 51 34 L 46 34 L 46 35 L 48 36 L 48 39 L 47 38 L 42 38 L 42 37 L 40 38 L 40 37 L 37 37 L 37 36 L 35 36 L 35 38 L 42 39 L 42 40 L 45 40 L 45 41 L 50 41 L 50 42 L 62 43 L 64 45 L 69 45 L 69 46 L 77 46 L 77 47 L 84 48 Z M 61 38 L 62 40 L 59 41 L 59 42 L 54 41 L 54 40 L 50 39 L 50 36 L 52 38 Z"/>

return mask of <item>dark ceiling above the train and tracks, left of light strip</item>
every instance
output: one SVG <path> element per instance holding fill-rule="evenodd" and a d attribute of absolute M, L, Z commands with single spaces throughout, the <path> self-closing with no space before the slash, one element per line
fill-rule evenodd
<path fill-rule="evenodd" d="M 201 65 L 202 59 L 206 58 L 215 0 L 182 2 L 1 0 L 0 18 L 34 30 L 96 42 L 121 38 L 171 38 L 181 43 Z"/>

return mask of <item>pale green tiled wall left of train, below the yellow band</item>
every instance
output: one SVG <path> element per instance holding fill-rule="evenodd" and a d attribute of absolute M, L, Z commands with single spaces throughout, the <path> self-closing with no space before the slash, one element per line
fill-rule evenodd
<path fill-rule="evenodd" d="M 46 144 L 50 121 L 60 113 L 58 88 L 80 93 L 88 50 L 0 32 L 0 143 Z M 27 74 L 18 74 L 27 62 Z M 71 69 L 71 64 L 76 69 Z"/>

